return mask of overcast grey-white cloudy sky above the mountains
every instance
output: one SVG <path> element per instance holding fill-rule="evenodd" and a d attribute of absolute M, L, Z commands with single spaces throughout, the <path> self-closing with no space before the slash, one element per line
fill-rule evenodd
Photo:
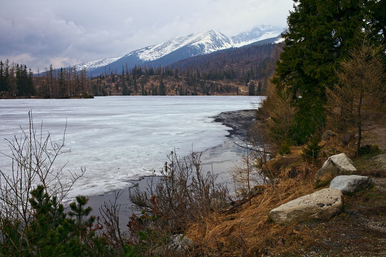
<path fill-rule="evenodd" d="M 0 0 L 0 59 L 36 72 L 119 57 L 194 32 L 286 26 L 292 0 Z"/>

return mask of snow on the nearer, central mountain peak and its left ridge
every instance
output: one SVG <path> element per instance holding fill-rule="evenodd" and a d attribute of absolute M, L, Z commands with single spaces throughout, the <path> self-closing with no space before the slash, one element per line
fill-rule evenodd
<path fill-rule="evenodd" d="M 159 59 L 181 47 L 191 46 L 201 50 L 201 54 L 208 54 L 217 50 L 232 47 L 229 38 L 213 30 L 193 33 L 183 37 L 176 37 L 167 42 L 139 48 L 123 57 L 136 55 L 143 62 Z"/>

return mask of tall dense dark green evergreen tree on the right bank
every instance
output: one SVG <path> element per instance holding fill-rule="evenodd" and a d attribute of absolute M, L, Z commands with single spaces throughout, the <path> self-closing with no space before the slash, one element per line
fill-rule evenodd
<path fill-rule="evenodd" d="M 386 9 L 384 0 L 294 2 L 273 83 L 279 94 L 284 87 L 291 89 L 299 109 L 295 141 L 302 142 L 323 124 L 325 89 L 337 82 L 335 70 L 354 47 L 356 34 L 371 27 L 373 43 L 385 38 Z"/>

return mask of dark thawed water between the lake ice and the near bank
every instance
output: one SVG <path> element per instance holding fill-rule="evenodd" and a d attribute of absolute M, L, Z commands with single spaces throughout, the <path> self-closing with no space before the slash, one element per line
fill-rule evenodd
<path fill-rule="evenodd" d="M 239 110 L 239 111 L 227 111 L 209 118 L 213 118 L 212 122 L 221 122 L 223 125 L 227 126 L 229 134 L 225 136 L 225 142 L 219 144 L 218 146 L 209 148 L 203 151 L 201 157 L 202 167 L 204 170 L 213 170 L 214 174 L 218 175 L 217 181 L 219 183 L 229 183 L 231 180 L 229 178 L 228 170 L 230 167 L 239 160 L 240 148 L 234 144 L 234 142 L 245 139 L 246 133 L 248 133 L 251 125 L 256 121 L 255 116 L 256 110 Z M 145 177 L 144 177 L 145 178 Z M 117 203 L 121 205 L 120 208 L 120 228 L 125 230 L 125 225 L 129 221 L 129 217 L 133 212 L 131 202 L 128 200 L 129 197 L 129 188 L 132 188 L 138 185 L 140 188 L 145 189 L 147 184 L 147 179 L 142 180 L 130 180 L 127 181 L 132 183 L 133 186 L 124 189 L 118 189 L 113 191 L 108 191 L 103 193 L 103 195 L 92 195 L 88 196 L 88 206 L 93 208 L 91 215 L 96 217 L 100 216 L 99 208 L 100 206 L 109 201 L 115 201 L 115 194 L 119 191 L 122 193 L 120 198 L 117 200 Z M 231 183 L 232 184 L 232 181 Z"/>

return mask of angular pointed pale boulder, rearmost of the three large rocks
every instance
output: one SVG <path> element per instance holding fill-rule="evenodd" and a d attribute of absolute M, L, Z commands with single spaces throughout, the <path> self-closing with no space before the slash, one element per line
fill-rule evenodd
<path fill-rule="evenodd" d="M 333 177 L 340 175 L 353 175 L 357 172 L 354 163 L 345 153 L 330 156 L 327 161 L 323 163 L 322 168 L 318 170 L 315 178 L 321 177 L 330 173 Z"/>

